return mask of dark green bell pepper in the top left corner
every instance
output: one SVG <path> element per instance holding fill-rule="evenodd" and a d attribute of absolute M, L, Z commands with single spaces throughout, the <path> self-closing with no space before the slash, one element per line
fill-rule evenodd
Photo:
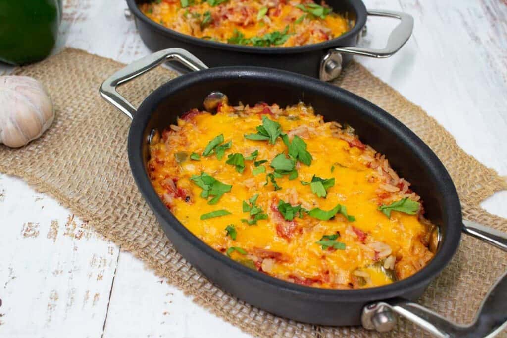
<path fill-rule="evenodd" d="M 0 0 L 0 61 L 40 61 L 55 46 L 61 0 Z"/>

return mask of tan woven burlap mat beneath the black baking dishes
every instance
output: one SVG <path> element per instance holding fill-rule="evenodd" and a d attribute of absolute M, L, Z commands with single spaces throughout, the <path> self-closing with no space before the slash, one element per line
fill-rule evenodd
<path fill-rule="evenodd" d="M 47 86 L 56 105 L 56 119 L 43 137 L 22 149 L 0 145 L 0 171 L 23 177 L 38 191 L 55 197 L 105 238 L 131 251 L 158 275 L 193 295 L 197 303 L 246 332 L 269 337 L 380 335 L 359 327 L 301 324 L 251 307 L 211 284 L 174 250 L 130 173 L 130 120 L 98 94 L 102 81 L 122 67 L 112 60 L 66 49 L 43 62 L 17 69 L 16 74 L 34 77 Z M 121 91 L 139 104 L 174 76 L 159 67 Z M 389 111 L 433 149 L 456 184 L 465 218 L 507 231 L 506 219 L 479 206 L 495 191 L 507 189 L 507 182 L 494 170 L 465 154 L 434 119 L 363 66 L 351 63 L 336 84 Z M 419 302 L 457 322 L 468 322 L 488 288 L 505 270 L 507 254 L 464 236 L 452 262 Z M 402 320 L 396 330 L 382 336 L 423 334 Z"/>

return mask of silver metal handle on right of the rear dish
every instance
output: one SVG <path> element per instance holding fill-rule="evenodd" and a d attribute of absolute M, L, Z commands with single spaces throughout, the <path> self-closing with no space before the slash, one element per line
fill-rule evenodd
<path fill-rule="evenodd" d="M 368 56 L 374 58 L 386 58 L 405 45 L 412 35 L 414 18 L 407 13 L 384 10 L 369 10 L 368 16 L 381 16 L 399 19 L 400 23 L 389 34 L 387 45 L 383 49 L 371 49 L 364 47 L 337 47 L 330 49 L 320 60 L 319 78 L 322 81 L 336 79 L 342 71 L 342 54 Z"/>

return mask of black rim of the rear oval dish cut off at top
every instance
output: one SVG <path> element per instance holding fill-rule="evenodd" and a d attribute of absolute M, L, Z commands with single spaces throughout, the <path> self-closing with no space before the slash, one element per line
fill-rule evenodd
<path fill-rule="evenodd" d="M 169 29 L 161 24 L 156 23 L 155 21 L 148 18 L 144 15 L 139 8 L 137 7 L 135 0 L 127 0 L 127 5 L 134 14 L 134 16 L 142 20 L 144 23 L 149 24 L 155 30 L 163 33 L 167 36 L 173 37 L 174 39 L 178 39 L 180 41 L 184 41 L 187 43 L 192 43 L 197 46 L 201 46 L 203 48 L 216 48 L 222 49 L 232 52 L 240 52 L 240 53 L 257 53 L 257 54 L 298 54 L 305 52 L 314 52 L 318 50 L 327 50 L 339 46 L 343 46 L 342 41 L 346 41 L 350 36 L 355 36 L 359 33 L 361 29 L 363 29 L 366 24 L 367 19 L 367 10 L 365 4 L 360 0 L 344 0 L 347 4 L 350 5 L 351 8 L 356 13 L 356 22 L 354 26 L 344 34 L 336 37 L 335 39 L 328 40 L 325 42 L 321 42 L 318 44 L 311 44 L 305 46 L 296 46 L 296 47 L 255 47 L 255 46 L 241 46 L 241 45 L 233 45 L 226 44 L 222 42 L 214 42 L 210 40 L 200 39 L 199 37 L 194 37 L 192 35 L 187 35 L 183 33 L 179 33 L 175 30 Z"/>

